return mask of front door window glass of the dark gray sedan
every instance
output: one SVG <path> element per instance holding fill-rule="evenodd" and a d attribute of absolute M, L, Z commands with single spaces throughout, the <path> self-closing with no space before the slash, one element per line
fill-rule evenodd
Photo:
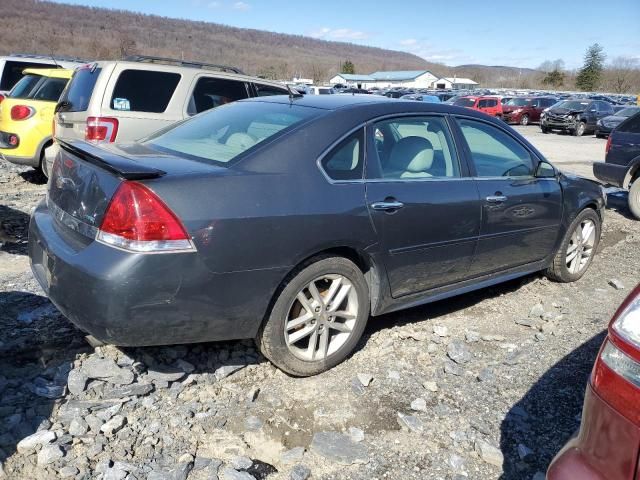
<path fill-rule="evenodd" d="M 533 175 L 533 159 L 520 143 L 493 125 L 458 119 L 478 177 Z"/>

